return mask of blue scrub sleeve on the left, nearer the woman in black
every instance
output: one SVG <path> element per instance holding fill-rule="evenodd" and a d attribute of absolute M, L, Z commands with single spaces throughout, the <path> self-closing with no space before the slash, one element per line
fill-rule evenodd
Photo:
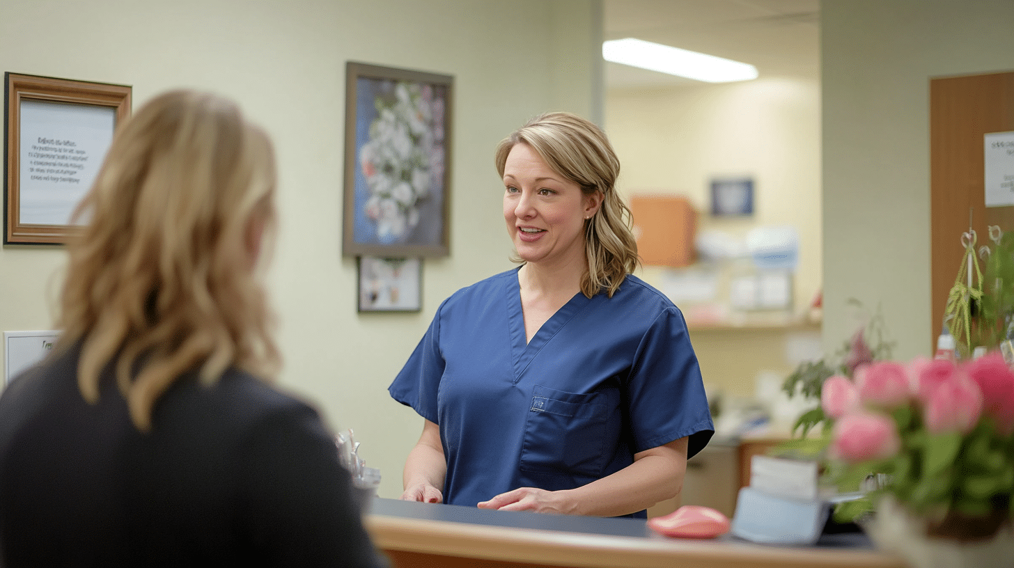
<path fill-rule="evenodd" d="M 387 388 L 391 398 L 412 407 L 420 416 L 434 424 L 439 423 L 437 392 L 445 367 L 440 351 L 440 312 L 446 303 L 447 300 L 444 300 L 437 308 L 426 335 Z"/>

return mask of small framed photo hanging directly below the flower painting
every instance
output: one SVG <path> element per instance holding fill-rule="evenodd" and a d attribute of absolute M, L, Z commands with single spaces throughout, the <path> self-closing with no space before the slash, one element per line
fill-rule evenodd
<path fill-rule="evenodd" d="M 359 311 L 419 311 L 422 259 L 359 257 Z"/>

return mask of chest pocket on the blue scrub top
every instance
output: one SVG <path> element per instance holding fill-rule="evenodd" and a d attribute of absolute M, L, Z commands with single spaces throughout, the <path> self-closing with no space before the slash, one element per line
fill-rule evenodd
<path fill-rule="evenodd" d="M 605 467 L 609 397 L 535 385 L 524 424 L 521 470 L 598 476 Z"/>

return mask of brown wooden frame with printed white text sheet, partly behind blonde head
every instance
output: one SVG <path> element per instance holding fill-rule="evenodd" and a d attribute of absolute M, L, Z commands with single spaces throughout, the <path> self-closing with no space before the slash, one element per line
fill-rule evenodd
<path fill-rule="evenodd" d="M 131 87 L 4 73 L 4 244 L 61 244 Z"/>

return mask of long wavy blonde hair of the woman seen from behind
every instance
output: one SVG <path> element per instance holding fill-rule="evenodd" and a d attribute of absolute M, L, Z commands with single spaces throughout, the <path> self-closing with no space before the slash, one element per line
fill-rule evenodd
<path fill-rule="evenodd" d="M 78 385 L 98 400 L 108 365 L 141 430 L 188 371 L 272 378 L 280 355 L 259 259 L 275 225 L 268 135 L 232 101 L 161 94 L 119 125 L 74 219 L 59 348 L 80 344 Z"/>

